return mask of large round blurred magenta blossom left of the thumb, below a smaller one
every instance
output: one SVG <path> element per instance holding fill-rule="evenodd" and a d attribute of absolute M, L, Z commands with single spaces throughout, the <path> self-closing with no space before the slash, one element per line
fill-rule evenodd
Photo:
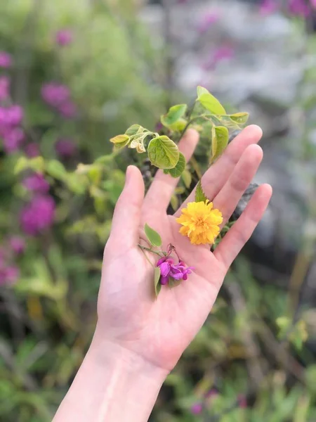
<path fill-rule="evenodd" d="M 36 196 L 27 204 L 20 214 L 20 224 L 23 231 L 30 236 L 36 236 L 53 224 L 55 202 L 51 196 Z"/>

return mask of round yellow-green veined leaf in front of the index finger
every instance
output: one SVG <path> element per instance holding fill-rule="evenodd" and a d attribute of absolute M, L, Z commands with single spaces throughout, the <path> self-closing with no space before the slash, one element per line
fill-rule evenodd
<path fill-rule="evenodd" d="M 172 169 L 176 167 L 179 155 L 180 153 L 176 143 L 165 135 L 152 139 L 148 145 L 150 162 L 159 169 Z"/>

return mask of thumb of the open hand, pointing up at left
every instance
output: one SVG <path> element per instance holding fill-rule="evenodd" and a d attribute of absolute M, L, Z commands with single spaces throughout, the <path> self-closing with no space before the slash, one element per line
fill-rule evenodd
<path fill-rule="evenodd" d="M 137 167 L 126 170 L 124 189 L 117 200 L 108 243 L 111 248 L 131 248 L 138 243 L 138 228 L 144 199 L 143 177 Z"/>

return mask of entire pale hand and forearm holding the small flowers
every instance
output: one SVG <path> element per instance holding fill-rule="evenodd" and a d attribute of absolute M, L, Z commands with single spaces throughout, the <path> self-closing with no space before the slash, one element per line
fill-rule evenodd
<path fill-rule="evenodd" d="M 206 196 L 223 213 L 223 224 L 258 170 L 263 158 L 257 145 L 261 136 L 259 127 L 246 127 L 202 178 Z M 180 141 L 187 160 L 198 138 L 189 129 Z M 209 245 L 191 245 L 178 233 L 180 209 L 175 215 L 166 214 L 177 183 L 159 171 L 144 198 L 140 171 L 128 168 L 105 246 L 96 332 L 53 422 L 148 420 L 162 383 L 204 324 L 230 264 L 249 240 L 272 195 L 270 185 L 261 185 L 212 253 Z M 185 203 L 193 200 L 194 192 Z M 180 286 L 163 287 L 157 300 L 152 265 L 138 247 L 145 223 L 162 236 L 164 250 L 171 243 L 181 260 L 195 267 Z M 158 259 L 150 252 L 147 256 L 152 262 Z"/>

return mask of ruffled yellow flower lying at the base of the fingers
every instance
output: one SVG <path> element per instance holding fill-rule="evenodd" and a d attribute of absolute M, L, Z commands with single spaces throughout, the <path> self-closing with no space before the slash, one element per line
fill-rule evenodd
<path fill-rule="evenodd" d="M 206 202 L 188 203 L 183 208 L 182 214 L 176 221 L 183 226 L 180 234 L 190 238 L 193 245 L 205 245 L 214 243 L 220 232 L 220 224 L 223 222 L 223 215 L 220 210 L 213 210 L 213 203 Z"/>

